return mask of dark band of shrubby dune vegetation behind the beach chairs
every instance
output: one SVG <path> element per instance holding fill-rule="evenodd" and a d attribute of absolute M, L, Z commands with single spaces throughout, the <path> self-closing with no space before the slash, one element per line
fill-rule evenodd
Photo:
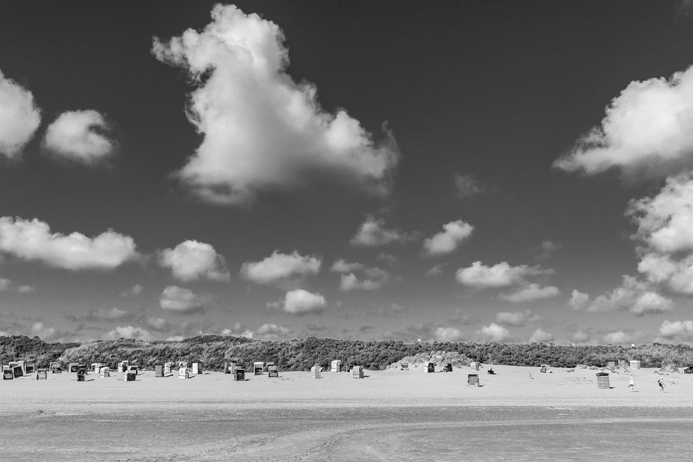
<path fill-rule="evenodd" d="M 47 343 L 39 337 L 0 337 L 0 362 L 35 359 L 37 366 L 51 361 L 62 363 L 105 363 L 116 366 L 123 359 L 141 368 L 153 368 L 155 362 L 198 361 L 206 370 L 221 371 L 225 359 L 252 366 L 254 361 L 273 361 L 283 371 L 308 371 L 314 364 L 327 367 L 333 359 L 361 364 L 366 368 L 385 369 L 405 358 L 423 362 L 428 358 L 453 365 L 480 361 L 509 366 L 554 367 L 606 366 L 609 361 L 639 359 L 643 367 L 674 364 L 693 365 L 693 347 L 651 344 L 630 346 L 559 346 L 554 344 L 498 344 L 471 342 L 405 343 L 396 340 L 362 341 L 307 339 L 252 340 L 244 337 L 202 335 L 181 341 L 143 341 L 135 339 L 98 340 L 82 343 Z M 405 359 L 407 360 L 407 359 Z"/>

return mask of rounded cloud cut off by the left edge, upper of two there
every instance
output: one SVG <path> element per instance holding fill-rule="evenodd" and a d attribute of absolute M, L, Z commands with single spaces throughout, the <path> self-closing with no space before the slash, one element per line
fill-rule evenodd
<path fill-rule="evenodd" d="M 33 94 L 0 71 L 0 154 L 19 154 L 40 123 Z"/>

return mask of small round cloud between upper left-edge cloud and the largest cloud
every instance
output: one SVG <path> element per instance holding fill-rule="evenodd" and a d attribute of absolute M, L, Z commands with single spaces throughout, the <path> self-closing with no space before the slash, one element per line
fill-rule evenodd
<path fill-rule="evenodd" d="M 113 152 L 114 143 L 108 138 L 108 131 L 99 112 L 67 111 L 46 129 L 44 146 L 56 157 L 94 165 Z"/>

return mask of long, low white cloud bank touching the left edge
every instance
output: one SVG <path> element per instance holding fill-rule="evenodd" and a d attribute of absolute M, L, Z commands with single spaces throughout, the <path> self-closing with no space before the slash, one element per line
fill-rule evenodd
<path fill-rule="evenodd" d="M 134 240 L 112 229 L 94 238 L 51 233 L 34 218 L 0 217 L 0 251 L 65 269 L 114 269 L 138 256 Z"/>

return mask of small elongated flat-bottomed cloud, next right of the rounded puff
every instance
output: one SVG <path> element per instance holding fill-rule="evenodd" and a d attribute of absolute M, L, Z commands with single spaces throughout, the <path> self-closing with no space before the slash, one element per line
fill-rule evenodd
<path fill-rule="evenodd" d="M 281 254 L 275 250 L 259 262 L 246 262 L 240 268 L 240 274 L 248 281 L 257 284 L 271 284 L 286 281 L 290 278 L 318 274 L 322 259 L 317 256 L 302 256 L 298 251 L 292 254 Z"/>

